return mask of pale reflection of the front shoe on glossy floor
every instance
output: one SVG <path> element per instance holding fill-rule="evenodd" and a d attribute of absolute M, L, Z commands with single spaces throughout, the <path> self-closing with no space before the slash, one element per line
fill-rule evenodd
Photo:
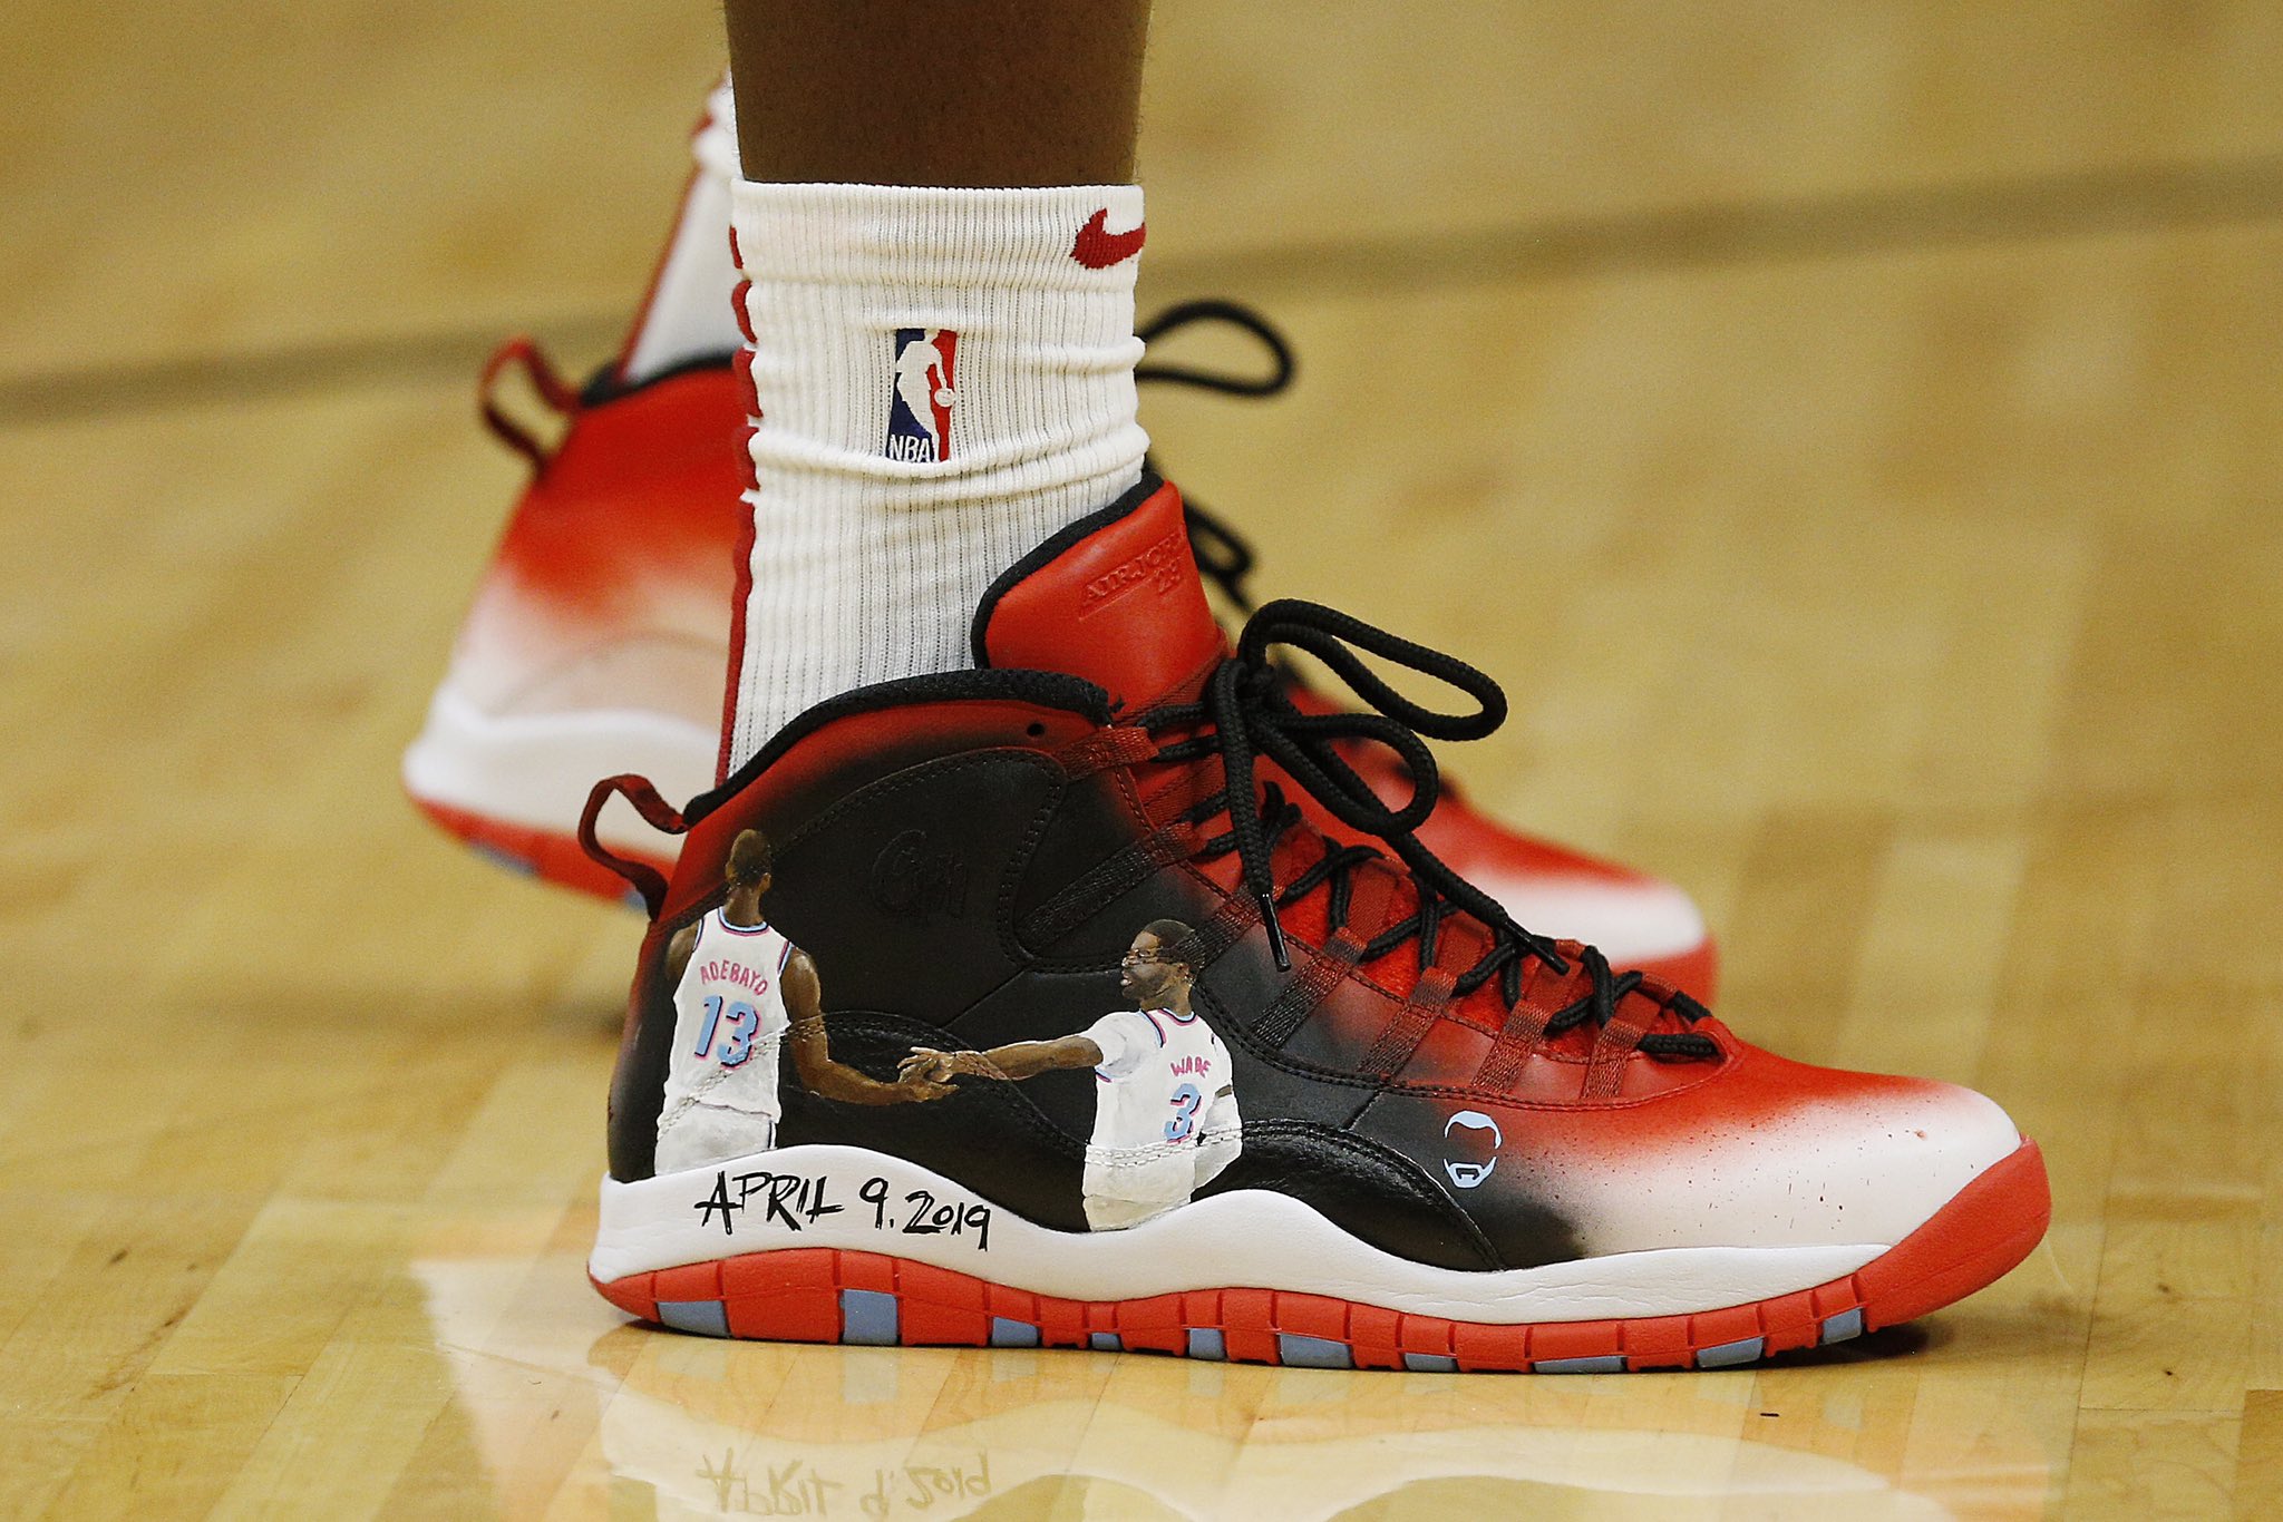
<path fill-rule="evenodd" d="M 612 1517 L 1945 1517 L 2034 1513 L 2052 1479 L 2027 1428 L 1975 1403 L 1867 1410 L 1922 1328 L 1767 1371 L 1386 1376 L 724 1344 L 589 1305 L 573 1253 L 413 1273 L 498 1495 L 564 1476 L 557 1506 L 607 1497 Z M 1854 1376 L 1817 1387 L 1810 1365 L 1842 1360 Z M 1762 1406 L 1785 1374 L 1810 1378 Z"/>

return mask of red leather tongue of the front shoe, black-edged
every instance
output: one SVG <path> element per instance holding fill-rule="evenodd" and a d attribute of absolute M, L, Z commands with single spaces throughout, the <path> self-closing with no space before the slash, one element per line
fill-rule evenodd
<path fill-rule="evenodd" d="M 1064 671 L 1126 712 L 1194 698 L 1226 650 L 1180 493 L 1155 475 L 1025 554 L 975 612 L 975 664 Z"/>

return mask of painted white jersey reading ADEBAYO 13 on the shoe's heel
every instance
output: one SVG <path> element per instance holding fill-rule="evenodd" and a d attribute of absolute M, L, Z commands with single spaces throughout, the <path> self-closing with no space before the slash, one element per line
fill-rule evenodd
<path fill-rule="evenodd" d="M 673 988 L 673 1061 L 658 1114 L 658 1168 L 696 1168 L 776 1141 L 776 1057 L 792 1025 L 779 981 L 792 942 L 721 910 L 699 920 Z"/>

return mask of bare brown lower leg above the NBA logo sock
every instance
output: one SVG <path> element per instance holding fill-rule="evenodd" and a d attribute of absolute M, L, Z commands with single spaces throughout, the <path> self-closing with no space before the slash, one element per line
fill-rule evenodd
<path fill-rule="evenodd" d="M 1148 0 L 728 0 L 744 178 L 1130 185 Z"/>

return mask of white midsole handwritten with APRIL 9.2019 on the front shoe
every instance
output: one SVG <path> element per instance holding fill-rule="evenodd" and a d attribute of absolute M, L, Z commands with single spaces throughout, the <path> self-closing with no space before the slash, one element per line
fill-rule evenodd
<path fill-rule="evenodd" d="M 877 1205 L 861 1196 L 872 1180 L 886 1191 Z M 911 1198 L 918 1191 L 934 1207 L 927 1221 L 950 1212 L 961 1230 L 909 1230 L 906 1212 L 927 1209 Z M 881 1196 L 881 1187 L 870 1193 Z M 817 1205 L 838 1212 L 810 1216 Z M 1073 1301 L 1249 1287 L 1511 1326 L 1744 1305 L 1854 1273 L 1886 1246 L 1657 1248 L 1466 1273 L 1381 1253 L 1299 1200 L 1260 1189 L 1194 1200 L 1123 1232 L 1057 1232 L 902 1157 L 801 1145 L 635 1184 L 605 1177 L 587 1266 L 607 1285 L 740 1253 L 856 1248 Z"/>

